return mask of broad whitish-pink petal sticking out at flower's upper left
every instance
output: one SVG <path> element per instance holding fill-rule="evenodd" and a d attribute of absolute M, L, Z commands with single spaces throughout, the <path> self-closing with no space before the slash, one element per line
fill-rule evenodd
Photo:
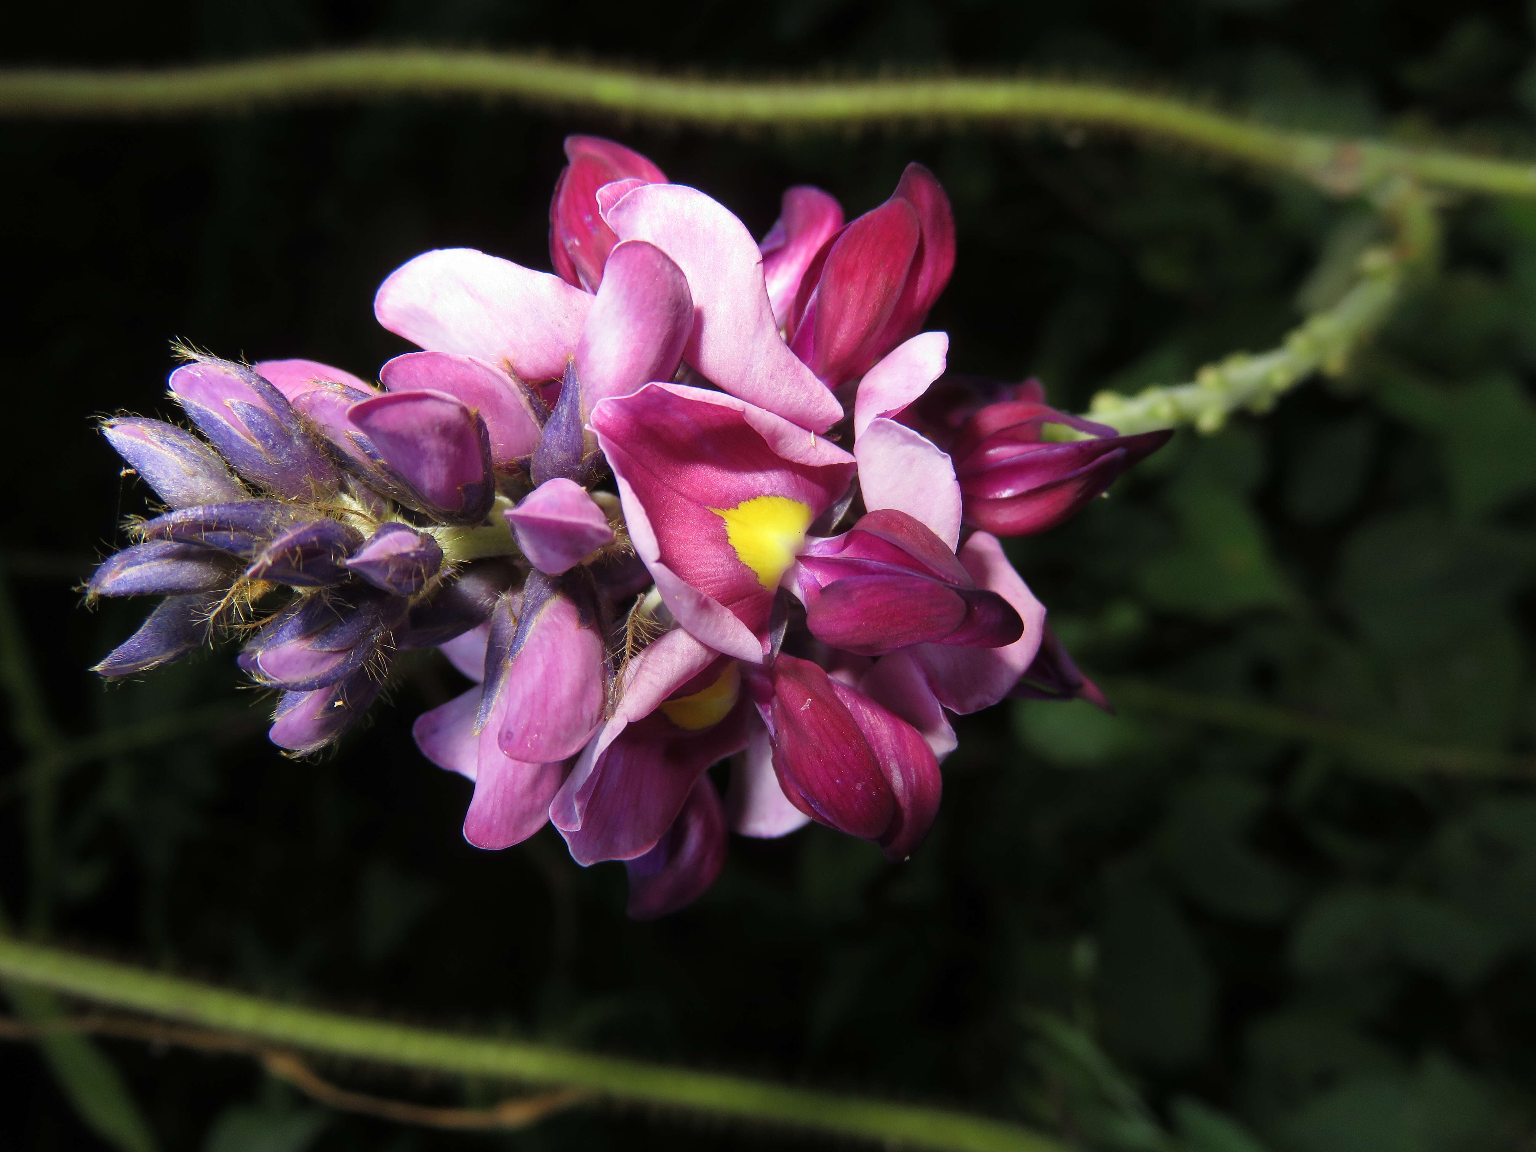
<path fill-rule="evenodd" d="M 505 364 L 525 381 L 565 372 L 590 307 L 559 276 L 468 247 L 424 252 L 373 298 L 379 324 L 412 344 Z"/>

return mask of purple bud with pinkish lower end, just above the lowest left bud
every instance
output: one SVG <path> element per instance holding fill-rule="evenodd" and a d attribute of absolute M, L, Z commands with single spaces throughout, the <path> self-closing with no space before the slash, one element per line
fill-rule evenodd
<path fill-rule="evenodd" d="M 352 598 L 309 596 L 257 633 L 238 664 L 272 688 L 329 688 L 366 668 L 404 619 L 402 599 L 372 590 Z"/>

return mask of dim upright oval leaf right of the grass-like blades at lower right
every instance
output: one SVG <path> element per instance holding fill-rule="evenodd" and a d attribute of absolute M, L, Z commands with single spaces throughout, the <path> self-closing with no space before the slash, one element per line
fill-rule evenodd
<path fill-rule="evenodd" d="M 1104 877 L 1098 955 L 1098 1005 L 1112 1049 L 1160 1068 L 1204 1051 L 1215 982 L 1178 905 L 1141 862 Z"/>

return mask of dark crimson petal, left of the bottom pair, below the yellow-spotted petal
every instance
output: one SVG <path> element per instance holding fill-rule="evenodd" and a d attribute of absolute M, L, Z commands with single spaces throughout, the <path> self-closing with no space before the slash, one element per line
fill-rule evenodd
<path fill-rule="evenodd" d="M 766 676 L 773 696 L 759 711 L 783 794 L 831 828 L 865 840 L 883 836 L 895 817 L 895 796 L 836 680 L 794 656 L 779 656 Z"/>

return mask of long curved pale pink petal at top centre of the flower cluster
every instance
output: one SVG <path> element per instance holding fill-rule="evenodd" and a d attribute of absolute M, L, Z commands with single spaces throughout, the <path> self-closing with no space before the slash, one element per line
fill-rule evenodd
<path fill-rule="evenodd" d="M 730 210 L 691 187 L 647 184 L 613 206 L 608 224 L 621 240 L 659 247 L 688 278 L 694 324 L 684 355 L 708 379 L 813 432 L 842 418 L 779 335 L 762 253 Z"/>

